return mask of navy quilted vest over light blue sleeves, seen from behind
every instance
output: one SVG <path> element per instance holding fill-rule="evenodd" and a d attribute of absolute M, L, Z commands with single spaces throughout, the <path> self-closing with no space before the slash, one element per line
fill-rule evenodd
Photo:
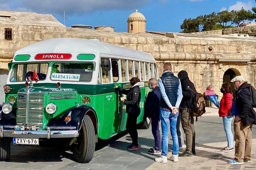
<path fill-rule="evenodd" d="M 162 83 L 164 85 L 165 93 L 171 103 L 172 106 L 176 105 L 177 97 L 178 97 L 178 88 L 180 81 L 178 77 L 173 75 L 173 72 L 171 71 L 165 71 L 162 74 L 162 77 L 160 77 L 162 80 Z M 161 108 L 169 108 L 168 105 L 165 103 L 162 95 L 160 99 L 160 107 Z"/>

